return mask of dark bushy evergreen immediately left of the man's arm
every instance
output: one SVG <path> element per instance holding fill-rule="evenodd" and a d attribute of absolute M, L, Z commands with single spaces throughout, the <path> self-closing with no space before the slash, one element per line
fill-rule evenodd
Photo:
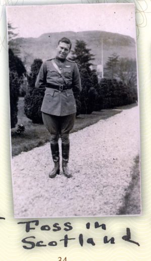
<path fill-rule="evenodd" d="M 41 104 L 44 97 L 44 91 L 39 91 L 35 88 L 35 82 L 39 69 L 42 65 L 41 59 L 35 59 L 31 65 L 30 75 L 27 76 L 28 88 L 25 95 L 24 110 L 28 118 L 30 118 L 33 123 L 42 123 L 41 115 Z"/>

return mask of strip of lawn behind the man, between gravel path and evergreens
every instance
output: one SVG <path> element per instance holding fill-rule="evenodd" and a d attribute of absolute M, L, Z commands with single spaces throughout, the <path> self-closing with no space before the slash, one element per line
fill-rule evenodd
<path fill-rule="evenodd" d="M 131 105 L 127 105 L 131 106 Z M 125 108 L 127 108 L 125 106 Z M 122 109 L 124 109 L 122 107 Z M 78 132 L 80 129 L 90 126 L 100 119 L 111 117 L 121 110 L 105 109 L 94 111 L 92 114 L 81 114 L 75 119 L 74 127 L 71 131 Z M 19 155 L 21 152 L 27 152 L 35 147 L 44 145 L 49 141 L 50 135 L 43 124 L 32 123 L 24 114 L 24 98 L 20 98 L 18 102 L 18 124 L 25 125 L 25 132 L 22 135 L 17 135 L 17 126 L 11 131 L 12 134 L 12 156 Z"/>

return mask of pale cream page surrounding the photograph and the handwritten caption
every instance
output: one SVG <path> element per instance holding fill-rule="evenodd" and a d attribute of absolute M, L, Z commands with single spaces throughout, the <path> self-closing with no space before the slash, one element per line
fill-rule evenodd
<path fill-rule="evenodd" d="M 89 3 L 132 3 L 131 1 L 89 1 Z M 25 232 L 24 225 L 17 222 L 24 221 L 13 217 L 13 195 L 11 181 L 11 155 L 10 155 L 10 119 L 9 119 L 9 72 L 6 29 L 6 5 L 36 5 L 36 4 L 62 4 L 62 3 L 88 3 L 85 1 L 1 1 L 0 15 L 0 260 L 4 261 L 55 261 L 66 256 L 67 261 L 149 261 L 151 258 L 151 1 L 134 0 L 136 6 L 137 25 L 137 55 L 139 73 L 140 95 L 140 130 L 141 130 L 141 192 L 142 215 L 129 217 L 103 217 L 103 218 L 64 218 L 40 219 L 40 225 L 29 233 Z M 30 219 L 31 220 L 31 219 Z M 69 237 L 76 240 L 69 241 L 68 247 L 59 242 L 65 235 L 63 223 L 70 221 L 73 229 L 68 232 Z M 94 229 L 94 222 L 105 223 L 107 229 Z M 41 231 L 40 226 L 58 222 L 62 229 L 58 232 Z M 86 223 L 91 222 L 90 229 Z M 125 234 L 126 227 L 131 230 L 131 239 L 139 242 L 136 244 L 125 242 L 121 237 Z M 84 246 L 78 241 L 79 234 L 84 235 Z M 56 247 L 35 247 L 26 250 L 22 247 L 21 240 L 27 236 L 35 236 L 36 240 L 45 243 L 56 240 Z M 115 244 L 103 244 L 103 237 L 115 237 Z M 88 244 L 87 238 L 93 237 L 96 245 Z"/>

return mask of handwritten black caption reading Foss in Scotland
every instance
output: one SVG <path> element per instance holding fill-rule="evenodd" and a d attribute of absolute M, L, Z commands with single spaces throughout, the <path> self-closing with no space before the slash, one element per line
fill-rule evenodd
<path fill-rule="evenodd" d="M 0 217 L 0 219 L 5 220 L 4 217 Z M 59 223 L 54 223 L 54 224 L 52 224 L 51 227 L 48 224 L 40 226 L 39 225 L 39 220 L 23 221 L 23 222 L 18 222 L 17 224 L 24 225 L 25 231 L 27 233 L 35 230 L 37 227 L 41 231 L 50 231 L 50 230 L 52 230 L 53 232 L 60 231 L 61 229 L 63 229 L 65 232 L 68 232 L 68 231 L 73 229 L 73 226 L 72 226 L 72 224 L 70 222 L 65 222 L 63 224 L 63 228 L 61 228 Z M 98 221 L 94 222 L 93 224 L 90 223 L 90 222 L 86 223 L 86 229 L 90 229 L 90 227 L 93 227 L 95 229 L 100 228 L 102 230 L 107 230 L 106 224 L 99 223 Z M 125 241 L 127 241 L 129 243 L 133 243 L 133 244 L 135 244 L 137 246 L 140 246 L 140 244 L 138 242 L 136 242 L 136 241 L 131 239 L 130 228 L 127 227 L 125 230 L 126 230 L 125 234 L 121 237 L 121 239 L 125 240 Z M 79 236 L 77 238 L 71 237 L 71 236 L 69 237 L 68 234 L 65 233 L 64 237 L 61 238 L 61 239 L 58 239 L 58 241 L 51 240 L 51 241 L 49 241 L 47 243 L 42 241 L 42 240 L 37 241 L 36 237 L 34 235 L 30 235 L 30 236 L 27 236 L 27 237 L 23 238 L 22 242 L 23 242 L 23 248 L 25 248 L 25 249 L 33 249 L 34 247 L 46 247 L 46 246 L 53 246 L 53 247 L 55 247 L 55 246 L 58 245 L 59 241 L 63 242 L 63 246 L 64 247 L 67 247 L 67 246 L 71 245 L 71 242 L 73 240 L 78 240 L 79 245 L 81 247 L 83 247 L 86 244 L 91 244 L 92 246 L 96 245 L 95 238 L 93 238 L 93 237 L 85 238 L 85 236 L 82 233 L 79 233 Z M 108 235 L 105 235 L 102 238 L 102 243 L 104 243 L 104 244 L 107 244 L 107 243 L 115 244 L 116 243 L 116 239 L 115 239 L 115 237 L 109 237 Z"/>

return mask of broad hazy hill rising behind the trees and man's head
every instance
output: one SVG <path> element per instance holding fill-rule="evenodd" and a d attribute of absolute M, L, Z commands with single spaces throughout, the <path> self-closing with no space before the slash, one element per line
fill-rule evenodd
<path fill-rule="evenodd" d="M 85 41 L 87 47 L 91 49 L 91 53 L 95 55 L 94 64 L 101 64 L 101 39 L 103 39 L 104 65 L 107 58 L 113 53 L 120 57 L 136 59 L 136 46 L 133 38 L 104 31 L 47 33 L 38 38 L 16 38 L 13 41 L 20 49 L 20 57 L 26 68 L 30 70 L 34 59 L 45 60 L 55 56 L 56 44 L 62 37 L 71 40 L 72 50 L 76 40 Z"/>

